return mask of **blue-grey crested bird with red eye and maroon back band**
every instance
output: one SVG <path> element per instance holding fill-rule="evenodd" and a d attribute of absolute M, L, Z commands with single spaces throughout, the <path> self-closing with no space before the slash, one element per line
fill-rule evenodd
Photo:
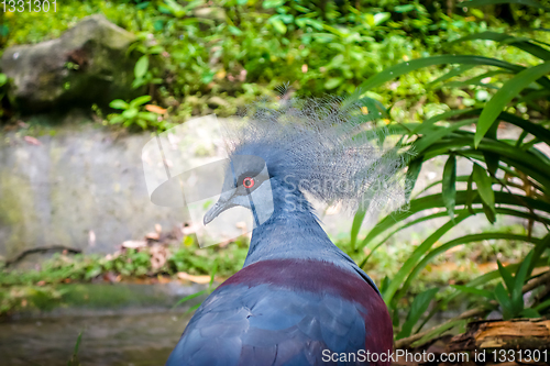
<path fill-rule="evenodd" d="M 356 209 L 396 190 L 402 162 L 372 142 L 363 123 L 371 114 L 359 107 L 334 98 L 257 104 L 248 123 L 228 129 L 230 158 L 241 163 L 228 167 L 232 189 L 205 224 L 234 206 L 271 215 L 254 229 L 244 267 L 198 308 L 166 365 L 389 365 L 387 308 L 308 201 Z"/>

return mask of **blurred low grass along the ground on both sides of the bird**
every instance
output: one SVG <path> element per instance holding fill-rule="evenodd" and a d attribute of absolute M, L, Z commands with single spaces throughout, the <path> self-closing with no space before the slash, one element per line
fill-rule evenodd
<path fill-rule="evenodd" d="M 510 233 L 522 230 L 520 226 L 508 228 Z M 410 241 L 388 242 L 385 244 L 385 249 L 374 253 L 364 269 L 377 284 L 381 284 L 383 278 L 391 278 L 396 274 L 418 243 L 419 237 L 415 235 Z M 351 251 L 349 241 L 337 242 L 337 244 L 359 262 L 361 255 Z M 238 241 L 227 247 L 216 245 L 199 248 L 188 237 L 178 246 L 170 246 L 167 249 L 169 253 L 167 260 L 160 268 L 152 267 L 152 255 L 148 248 L 125 249 L 108 255 L 56 254 L 44 260 L 38 269 L 33 270 L 3 267 L 0 273 L 0 314 L 25 309 L 50 310 L 66 302 L 67 299 L 78 297 L 78 291 L 77 295 L 73 293 L 75 292 L 74 286 L 98 282 L 98 280 L 106 284 L 109 280 L 154 282 L 158 276 L 177 280 L 179 271 L 194 276 L 209 276 L 215 264 L 216 276 L 222 279 L 228 278 L 242 268 L 248 253 L 248 243 Z M 438 258 L 424 270 L 410 287 L 408 297 L 402 306 L 406 307 L 415 295 L 430 286 L 468 282 L 481 274 L 481 269 L 477 268 L 479 263 L 495 263 L 497 255 L 502 262 L 514 262 L 514 258 L 524 255 L 525 252 L 526 248 L 521 243 L 509 241 L 484 241 L 475 249 L 471 246 L 462 246 L 454 251 L 452 256 Z M 447 263 L 453 263 L 453 266 L 446 267 Z"/>

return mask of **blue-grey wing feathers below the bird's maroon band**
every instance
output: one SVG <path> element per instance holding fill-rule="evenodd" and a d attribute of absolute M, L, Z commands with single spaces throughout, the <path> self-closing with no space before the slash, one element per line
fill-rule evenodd
<path fill-rule="evenodd" d="M 197 310 L 167 366 L 330 365 L 322 350 L 364 347 L 361 306 L 270 285 L 226 286 Z"/>

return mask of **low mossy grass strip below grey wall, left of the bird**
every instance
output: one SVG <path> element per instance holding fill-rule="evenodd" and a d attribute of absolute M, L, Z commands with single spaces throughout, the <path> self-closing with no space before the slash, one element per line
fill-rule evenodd
<path fill-rule="evenodd" d="M 239 239 L 224 248 L 209 246 L 197 249 L 197 243 L 186 236 L 174 251 L 165 252 L 162 266 L 154 266 L 155 253 L 150 247 L 127 248 L 107 256 L 54 255 L 45 260 L 38 270 L 18 270 L 0 267 L 0 315 L 13 311 L 36 308 L 50 310 L 58 306 L 63 292 L 58 284 L 88 282 L 101 278 L 155 278 L 175 276 L 185 271 L 189 275 L 213 275 L 229 277 L 242 268 L 248 253 L 248 242 Z"/>

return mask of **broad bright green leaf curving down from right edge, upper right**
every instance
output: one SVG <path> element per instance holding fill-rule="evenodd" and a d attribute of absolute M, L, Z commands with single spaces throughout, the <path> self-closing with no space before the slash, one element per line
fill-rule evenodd
<path fill-rule="evenodd" d="M 503 85 L 503 87 L 485 104 L 485 108 L 480 115 L 480 121 L 477 122 L 477 129 L 475 131 L 474 138 L 475 147 L 480 145 L 481 140 L 488 131 L 491 125 L 495 123 L 495 120 L 504 110 L 506 104 L 508 104 L 508 102 L 517 97 L 524 88 L 549 73 L 550 62 L 547 62 L 530 68 L 526 68 Z"/>

